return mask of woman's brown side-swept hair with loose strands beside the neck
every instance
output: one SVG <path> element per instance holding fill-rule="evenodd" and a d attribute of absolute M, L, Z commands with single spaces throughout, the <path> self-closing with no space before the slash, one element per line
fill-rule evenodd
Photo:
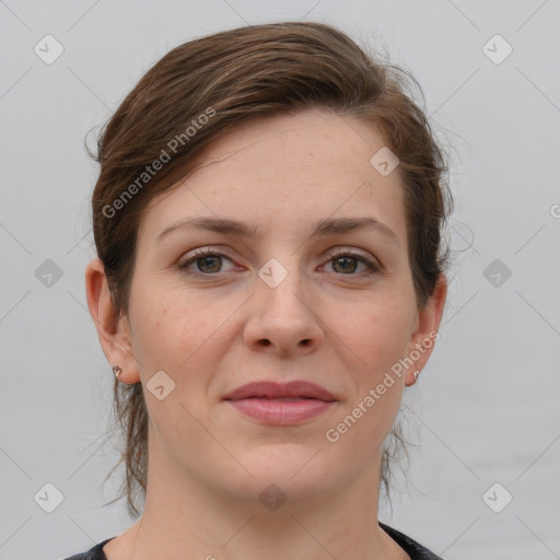
<path fill-rule="evenodd" d="M 240 27 L 190 40 L 156 62 L 105 125 L 92 155 L 101 172 L 92 197 L 93 233 L 115 308 L 128 314 L 142 212 L 185 177 L 202 149 L 240 121 L 320 108 L 371 124 L 399 159 L 409 261 L 419 308 L 433 293 L 448 252 L 441 231 L 451 211 L 447 167 L 405 70 L 382 63 L 337 28 L 285 22 Z M 373 154 L 372 154 L 373 155 Z M 160 162 L 160 165 L 155 162 Z M 145 497 L 148 411 L 141 383 L 115 381 L 114 413 L 125 445 L 126 480 L 116 501 Z M 402 439 L 398 422 L 393 443 Z M 388 495 L 384 448 L 382 485 Z M 109 503 L 113 503 L 109 502 Z"/>

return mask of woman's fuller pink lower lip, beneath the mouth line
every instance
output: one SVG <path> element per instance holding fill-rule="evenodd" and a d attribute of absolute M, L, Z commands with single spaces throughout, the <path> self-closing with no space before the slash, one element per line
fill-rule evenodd
<path fill-rule="evenodd" d="M 267 398 L 244 398 L 229 400 L 237 410 L 261 422 L 277 425 L 298 424 L 326 412 L 335 401 L 315 398 L 302 400 L 272 400 Z"/>

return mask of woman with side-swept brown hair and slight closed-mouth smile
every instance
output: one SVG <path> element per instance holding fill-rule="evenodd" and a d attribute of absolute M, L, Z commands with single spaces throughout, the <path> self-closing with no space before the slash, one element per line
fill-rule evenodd
<path fill-rule="evenodd" d="M 257 25 L 175 48 L 109 120 L 86 292 L 144 505 L 73 559 L 439 558 L 377 520 L 446 296 L 445 167 L 402 75 Z"/>

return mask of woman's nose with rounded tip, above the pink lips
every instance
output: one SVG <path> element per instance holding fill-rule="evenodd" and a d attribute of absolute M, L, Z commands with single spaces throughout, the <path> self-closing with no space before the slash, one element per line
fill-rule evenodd
<path fill-rule="evenodd" d="M 256 351 L 283 357 L 316 351 L 325 337 L 313 298 L 306 296 L 295 272 L 276 288 L 257 280 L 245 325 L 245 343 Z"/>

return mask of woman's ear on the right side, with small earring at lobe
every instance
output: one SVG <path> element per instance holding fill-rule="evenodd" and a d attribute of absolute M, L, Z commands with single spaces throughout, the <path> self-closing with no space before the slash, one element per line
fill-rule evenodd
<path fill-rule="evenodd" d="M 447 296 L 447 279 L 440 273 L 433 294 L 429 298 L 425 306 L 418 310 L 415 330 L 410 337 L 407 348 L 407 357 L 413 362 L 408 369 L 405 385 L 416 383 L 415 372 L 422 371 L 430 358 L 435 341 L 440 338 L 438 329 L 443 315 L 443 307 Z"/>

